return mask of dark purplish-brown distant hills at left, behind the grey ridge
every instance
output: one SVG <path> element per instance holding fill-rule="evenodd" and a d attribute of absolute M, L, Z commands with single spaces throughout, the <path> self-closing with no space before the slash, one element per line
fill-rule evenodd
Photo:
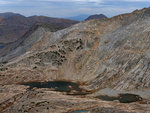
<path fill-rule="evenodd" d="M 0 13 L 0 46 L 21 38 L 36 23 L 55 24 L 66 28 L 78 21 L 46 16 L 25 17 L 16 13 Z"/>

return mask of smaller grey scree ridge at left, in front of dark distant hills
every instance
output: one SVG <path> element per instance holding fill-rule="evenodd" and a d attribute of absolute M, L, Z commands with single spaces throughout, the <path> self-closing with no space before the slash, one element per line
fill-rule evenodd
<path fill-rule="evenodd" d="M 43 36 L 44 33 L 46 33 L 47 31 L 55 32 L 60 29 L 63 29 L 63 27 L 58 24 L 36 23 L 17 41 L 9 43 L 7 45 L 5 44 L 5 46 L 2 45 L 4 47 L 1 48 L 1 50 L 0 50 L 0 53 L 1 53 L 0 56 L 7 55 L 7 57 L 8 57 L 8 54 L 10 54 L 9 59 L 19 56 L 20 54 L 26 52 L 27 48 L 30 48 L 31 45 L 33 45 L 32 40 L 38 41 L 38 40 L 40 40 L 40 39 L 38 39 L 38 37 L 41 38 L 41 36 Z M 38 37 L 35 37 L 34 35 L 36 35 Z M 26 44 L 24 44 L 24 43 L 26 43 Z M 16 50 L 16 49 L 18 52 L 13 53 L 13 50 Z"/>

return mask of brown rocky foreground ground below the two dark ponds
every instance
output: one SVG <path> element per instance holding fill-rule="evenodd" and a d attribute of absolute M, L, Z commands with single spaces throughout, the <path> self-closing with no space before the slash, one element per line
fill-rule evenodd
<path fill-rule="evenodd" d="M 49 89 L 34 89 L 19 85 L 1 86 L 2 113 L 149 113 L 148 102 L 123 104 L 102 101 L 92 97 L 68 96 Z M 76 111 L 76 112 L 75 112 Z"/>

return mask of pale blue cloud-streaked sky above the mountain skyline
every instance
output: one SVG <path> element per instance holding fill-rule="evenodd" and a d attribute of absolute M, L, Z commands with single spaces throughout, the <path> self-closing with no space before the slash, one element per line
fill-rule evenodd
<path fill-rule="evenodd" d="M 0 13 L 25 16 L 72 17 L 80 14 L 105 14 L 112 17 L 150 7 L 150 0 L 0 0 Z"/>

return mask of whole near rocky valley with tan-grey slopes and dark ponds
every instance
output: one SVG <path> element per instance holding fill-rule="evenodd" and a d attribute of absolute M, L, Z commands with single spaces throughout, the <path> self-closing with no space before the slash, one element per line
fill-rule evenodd
<path fill-rule="evenodd" d="M 0 112 L 150 113 L 150 8 L 59 28 L 0 49 Z"/>

